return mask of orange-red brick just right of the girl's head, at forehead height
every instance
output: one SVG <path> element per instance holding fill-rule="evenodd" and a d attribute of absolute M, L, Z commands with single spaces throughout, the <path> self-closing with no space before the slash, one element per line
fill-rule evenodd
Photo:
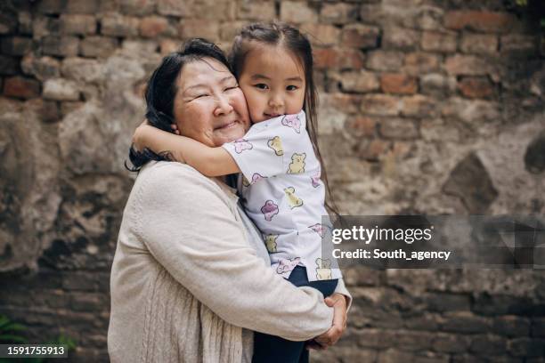
<path fill-rule="evenodd" d="M 313 49 L 316 69 L 362 69 L 364 56 L 357 49 Z"/>

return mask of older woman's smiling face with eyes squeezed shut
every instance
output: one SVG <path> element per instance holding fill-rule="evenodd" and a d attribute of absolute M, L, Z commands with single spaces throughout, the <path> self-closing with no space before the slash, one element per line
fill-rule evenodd
<path fill-rule="evenodd" d="M 183 136 L 215 147 L 248 131 L 246 99 L 220 61 L 205 58 L 185 64 L 176 85 L 174 116 Z"/>

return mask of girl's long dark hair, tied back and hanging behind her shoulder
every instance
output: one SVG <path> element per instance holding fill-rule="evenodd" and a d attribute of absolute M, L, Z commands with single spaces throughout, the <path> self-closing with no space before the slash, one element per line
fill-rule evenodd
<path fill-rule="evenodd" d="M 318 92 L 316 91 L 313 78 L 313 48 L 310 41 L 297 28 L 282 22 L 253 23 L 242 28 L 239 35 L 235 36 L 229 56 L 233 74 L 237 79 L 240 79 L 240 73 L 244 69 L 244 62 L 248 52 L 256 44 L 283 46 L 286 50 L 293 53 L 303 66 L 306 82 L 303 109 L 306 114 L 307 130 L 313 144 L 314 153 L 318 157 L 318 160 L 320 160 L 322 180 L 328 191 L 329 202 L 326 201 L 326 206 L 331 212 L 338 215 L 338 208 L 333 201 L 331 190 L 329 189 L 328 174 L 321 158 L 316 136 L 318 131 Z"/>

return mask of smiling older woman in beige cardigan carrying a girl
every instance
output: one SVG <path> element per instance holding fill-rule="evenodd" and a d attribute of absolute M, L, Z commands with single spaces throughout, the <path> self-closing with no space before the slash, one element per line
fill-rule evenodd
<path fill-rule="evenodd" d="M 205 91 L 208 97 L 195 97 Z M 146 91 L 151 125 L 210 146 L 249 127 L 224 53 L 202 39 L 168 55 Z M 251 330 L 327 347 L 346 326 L 342 280 L 324 302 L 267 266 L 259 232 L 223 179 L 131 154 L 142 166 L 127 201 L 111 270 L 112 362 L 250 362 Z M 150 161 L 150 162 L 148 162 Z M 345 299 L 346 296 L 346 299 Z M 328 304 L 326 304 L 328 303 Z"/>

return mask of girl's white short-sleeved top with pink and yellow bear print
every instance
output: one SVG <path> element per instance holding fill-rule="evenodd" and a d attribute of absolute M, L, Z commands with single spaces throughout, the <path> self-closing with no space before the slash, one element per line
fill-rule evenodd
<path fill-rule="evenodd" d="M 243 174 L 246 212 L 264 235 L 273 269 L 289 278 L 303 265 L 309 281 L 341 278 L 331 258 L 321 256 L 325 189 L 305 112 L 254 124 L 242 139 L 223 147 Z"/>

